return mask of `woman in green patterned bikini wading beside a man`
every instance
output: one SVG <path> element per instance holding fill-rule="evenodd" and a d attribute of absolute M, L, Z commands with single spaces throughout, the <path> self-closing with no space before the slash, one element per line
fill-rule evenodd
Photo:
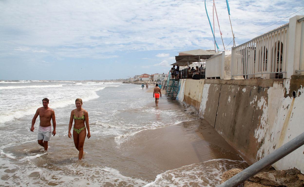
<path fill-rule="evenodd" d="M 82 108 L 82 100 L 79 98 L 76 99 L 75 105 L 76 105 L 76 109 L 72 110 L 71 112 L 68 136 L 69 138 L 72 137 L 71 129 L 74 119 L 73 139 L 74 139 L 75 147 L 79 151 L 78 160 L 81 160 L 83 155 L 83 144 L 85 143 L 85 135 L 87 135 L 87 130 L 85 128 L 85 125 L 87 126 L 88 129 L 87 137 L 90 138 L 91 134 L 89 127 L 88 112 Z"/>

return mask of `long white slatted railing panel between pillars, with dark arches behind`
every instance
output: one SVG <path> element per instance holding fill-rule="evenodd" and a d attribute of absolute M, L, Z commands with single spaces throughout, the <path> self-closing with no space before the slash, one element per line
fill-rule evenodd
<path fill-rule="evenodd" d="M 231 76 L 285 78 L 288 27 L 283 25 L 232 48 Z M 263 75 L 266 74 L 266 75 Z"/>

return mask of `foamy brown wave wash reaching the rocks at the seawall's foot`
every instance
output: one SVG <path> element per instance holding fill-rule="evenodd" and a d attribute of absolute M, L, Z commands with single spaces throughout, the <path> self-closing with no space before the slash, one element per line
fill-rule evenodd
<path fill-rule="evenodd" d="M 245 161 L 213 159 L 198 164 L 182 166 L 157 175 L 154 182 L 144 187 L 206 186 L 219 185 L 223 172 L 233 168 L 245 169 Z"/>

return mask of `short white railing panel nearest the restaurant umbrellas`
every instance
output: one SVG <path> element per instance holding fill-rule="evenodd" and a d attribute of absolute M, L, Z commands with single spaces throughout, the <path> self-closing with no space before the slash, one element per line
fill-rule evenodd
<path fill-rule="evenodd" d="M 206 70 L 205 77 L 220 77 L 224 78 L 224 68 L 225 68 L 225 52 L 222 54 L 212 56 L 211 58 L 206 59 Z"/>

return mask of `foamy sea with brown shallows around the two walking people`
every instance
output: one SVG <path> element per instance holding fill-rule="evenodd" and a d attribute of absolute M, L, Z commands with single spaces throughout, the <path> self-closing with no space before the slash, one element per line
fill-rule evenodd
<path fill-rule="evenodd" d="M 39 118 L 30 131 L 43 98 L 50 99 L 57 123 L 47 152 L 37 144 Z M 67 136 L 76 98 L 83 100 L 91 131 L 81 161 Z M 164 96 L 162 102 L 168 102 Z M 240 160 L 211 159 L 162 171 L 153 160 L 123 154 L 130 138 L 142 131 L 197 118 L 182 104 L 163 110 L 153 105 L 152 93 L 135 84 L 0 81 L 0 186 L 216 186 L 224 171 L 247 166 Z"/>

